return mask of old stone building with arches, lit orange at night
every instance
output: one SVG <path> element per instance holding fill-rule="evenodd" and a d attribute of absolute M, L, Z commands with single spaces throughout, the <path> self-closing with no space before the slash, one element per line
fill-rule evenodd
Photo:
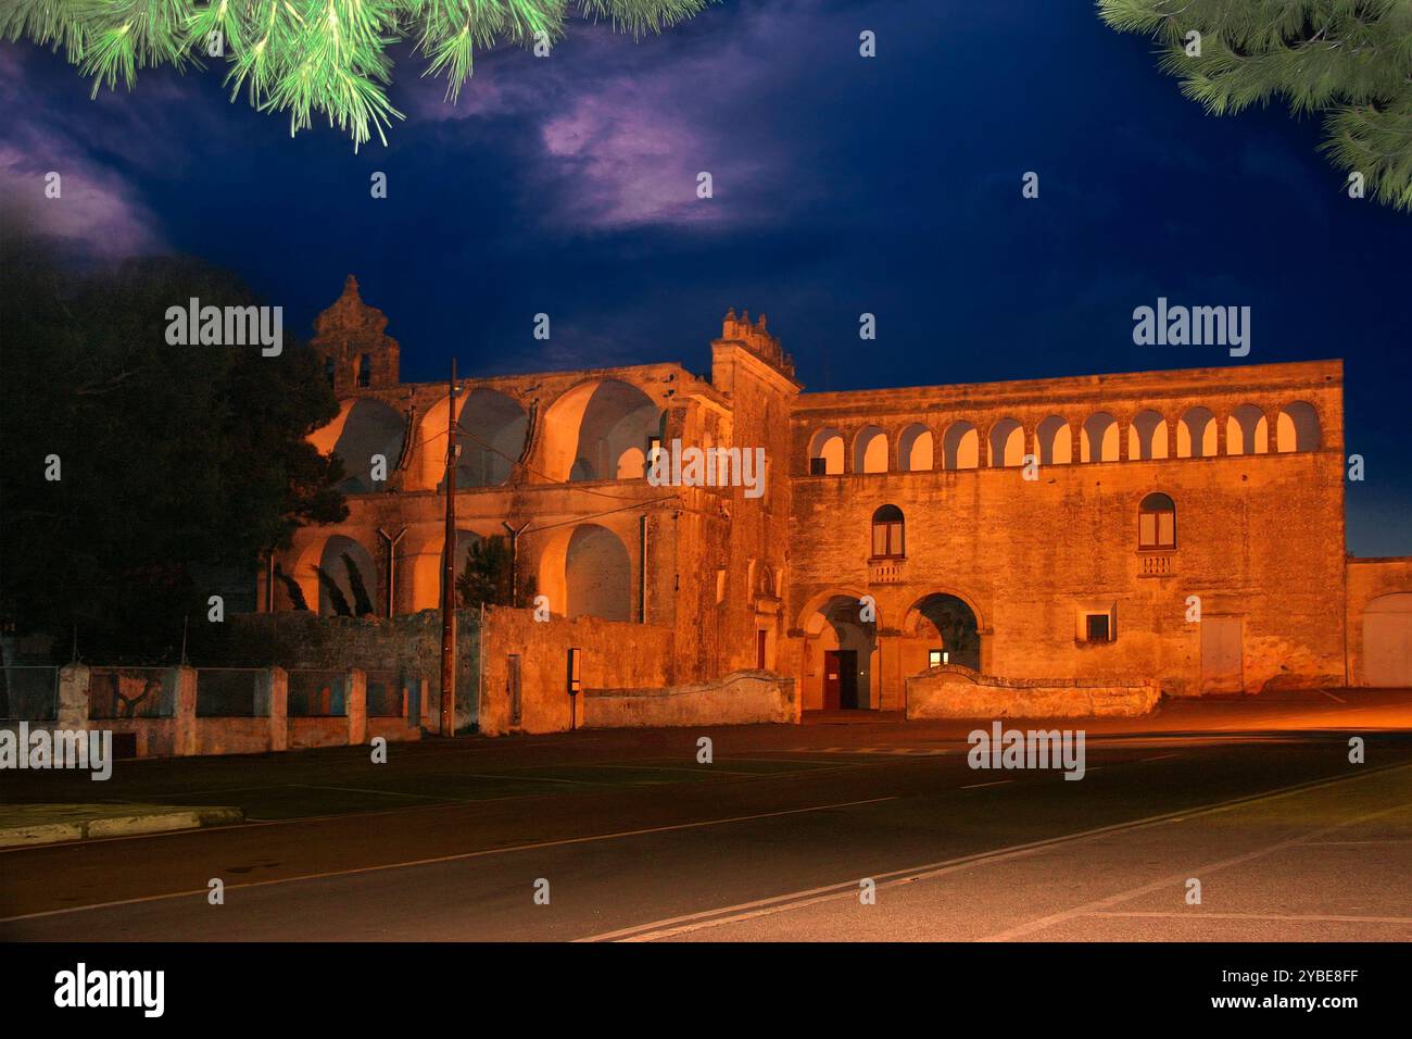
<path fill-rule="evenodd" d="M 345 459 L 350 515 L 277 563 L 323 614 L 315 567 L 352 598 L 345 556 L 378 615 L 441 605 L 452 396 L 400 380 L 385 327 L 349 277 L 312 341 L 342 410 L 311 440 Z M 898 710 L 939 663 L 1169 695 L 1412 684 L 1412 560 L 1344 553 L 1339 360 L 802 390 L 734 311 L 709 377 L 462 380 L 457 573 L 510 524 L 521 606 L 661 649 L 618 684 L 762 669 L 805 708 Z M 648 479 L 686 448 L 764 448 L 764 493 Z M 278 580 L 261 595 L 295 605 Z"/>

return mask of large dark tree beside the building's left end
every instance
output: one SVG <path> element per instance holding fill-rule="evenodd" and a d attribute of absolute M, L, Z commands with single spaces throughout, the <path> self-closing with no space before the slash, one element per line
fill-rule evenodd
<path fill-rule="evenodd" d="M 305 435 L 337 414 L 312 353 L 171 346 L 167 310 L 257 304 L 186 257 L 71 269 L 0 228 L 0 621 L 76 629 L 86 659 L 165 659 L 208 597 L 343 519 L 342 464 Z M 61 479 L 45 479 L 47 458 Z M 213 592 L 215 584 L 222 588 Z"/>

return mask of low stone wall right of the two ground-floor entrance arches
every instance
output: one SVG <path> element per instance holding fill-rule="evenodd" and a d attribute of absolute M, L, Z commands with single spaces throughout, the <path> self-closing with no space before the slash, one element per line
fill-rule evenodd
<path fill-rule="evenodd" d="M 1132 718 L 1161 697 L 1154 679 L 998 679 L 942 664 L 907 680 L 908 718 Z"/>

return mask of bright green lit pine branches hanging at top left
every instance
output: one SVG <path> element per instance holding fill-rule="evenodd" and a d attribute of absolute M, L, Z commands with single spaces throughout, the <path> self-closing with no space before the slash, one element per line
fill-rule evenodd
<path fill-rule="evenodd" d="M 570 11 L 604 18 L 640 38 L 693 17 L 712 0 L 6 0 L 0 37 L 64 49 L 93 76 L 93 95 L 137 69 L 225 62 L 230 98 L 244 90 L 263 112 L 288 112 L 291 136 L 315 113 L 354 147 L 402 113 L 387 99 L 388 48 L 412 41 L 426 74 L 446 76 L 455 102 L 476 51 L 498 44 L 544 48 L 563 37 Z"/>

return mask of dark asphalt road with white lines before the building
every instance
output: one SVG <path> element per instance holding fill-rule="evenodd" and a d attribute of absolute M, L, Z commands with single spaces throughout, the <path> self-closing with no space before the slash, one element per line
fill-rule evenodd
<path fill-rule="evenodd" d="M 253 821 L 0 852 L 0 939 L 1412 939 L 1412 693 L 1084 722 L 1082 782 L 970 769 L 973 722 L 812 721 L 7 773 Z"/>

